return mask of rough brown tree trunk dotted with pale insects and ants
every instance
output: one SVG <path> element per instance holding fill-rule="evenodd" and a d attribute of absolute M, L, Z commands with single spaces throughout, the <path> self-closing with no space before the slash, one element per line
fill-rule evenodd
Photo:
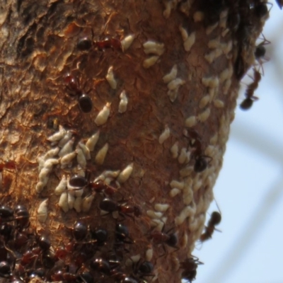
<path fill-rule="evenodd" d="M 1 280 L 194 279 L 192 250 L 267 16 L 260 0 L 1 1 L 0 201 L 30 214 L 28 226 L 1 207 Z M 72 137 L 59 156 L 55 132 Z M 78 172 L 102 192 L 54 192 Z M 105 198 L 114 212 L 102 216 Z M 104 245 L 96 228 L 108 231 Z"/>

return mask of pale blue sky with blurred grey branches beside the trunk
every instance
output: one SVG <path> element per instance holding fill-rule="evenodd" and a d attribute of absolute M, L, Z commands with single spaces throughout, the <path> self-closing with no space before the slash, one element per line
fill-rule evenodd
<path fill-rule="evenodd" d="M 260 99 L 248 111 L 236 110 L 214 187 L 221 233 L 195 249 L 204 262 L 195 283 L 283 283 L 283 10 L 270 2 L 263 31 L 272 42 L 270 62 L 255 91 Z"/>

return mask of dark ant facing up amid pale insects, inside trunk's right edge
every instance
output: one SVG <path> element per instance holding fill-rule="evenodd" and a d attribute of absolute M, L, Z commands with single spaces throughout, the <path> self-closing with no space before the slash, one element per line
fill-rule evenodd
<path fill-rule="evenodd" d="M 184 130 L 183 134 L 185 135 L 185 137 L 190 138 L 190 146 L 195 149 L 192 154 L 192 156 L 195 157 L 194 171 L 201 173 L 207 168 L 209 162 L 212 161 L 212 157 L 203 154 L 202 141 L 199 134 L 197 134 L 194 129 L 190 129 L 189 131 Z M 192 142 L 192 139 L 194 139 L 195 141 Z M 207 158 L 209 158 L 209 162 L 207 162 Z"/>

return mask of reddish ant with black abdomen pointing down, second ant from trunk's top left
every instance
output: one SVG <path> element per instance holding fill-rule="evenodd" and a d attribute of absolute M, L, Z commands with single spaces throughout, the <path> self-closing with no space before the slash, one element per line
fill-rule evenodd
<path fill-rule="evenodd" d="M 77 96 L 81 111 L 84 113 L 91 112 L 93 108 L 93 103 L 91 101 L 91 98 L 81 89 L 79 79 L 77 79 L 72 74 L 68 73 L 64 77 L 64 83 L 66 85 L 69 95 Z"/>

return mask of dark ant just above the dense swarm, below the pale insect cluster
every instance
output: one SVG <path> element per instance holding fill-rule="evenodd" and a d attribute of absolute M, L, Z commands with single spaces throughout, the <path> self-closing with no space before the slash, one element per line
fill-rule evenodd
<path fill-rule="evenodd" d="M 122 216 L 131 216 L 129 214 L 134 214 L 134 216 L 139 217 L 141 215 L 141 209 L 137 205 L 127 205 L 125 202 L 120 204 L 119 202 L 115 202 L 108 197 L 105 197 L 99 203 L 99 208 L 108 212 L 119 212 Z M 132 216 L 131 216 L 132 217 Z"/>

